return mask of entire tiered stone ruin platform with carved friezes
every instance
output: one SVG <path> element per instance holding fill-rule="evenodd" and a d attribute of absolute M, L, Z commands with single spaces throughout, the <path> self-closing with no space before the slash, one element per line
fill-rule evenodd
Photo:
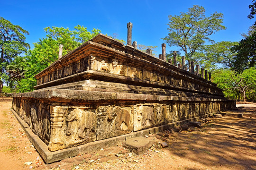
<path fill-rule="evenodd" d="M 12 111 L 46 163 L 235 108 L 216 84 L 129 38 L 99 34 L 37 74 L 35 91 L 13 95 Z"/>

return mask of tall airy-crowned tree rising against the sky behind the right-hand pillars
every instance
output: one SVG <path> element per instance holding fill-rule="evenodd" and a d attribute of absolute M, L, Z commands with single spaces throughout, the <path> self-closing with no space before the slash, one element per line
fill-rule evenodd
<path fill-rule="evenodd" d="M 209 36 L 226 29 L 221 25 L 222 22 L 223 14 L 215 12 L 210 17 L 205 17 L 205 9 L 194 5 L 186 13 L 169 16 L 169 33 L 163 39 L 169 46 L 181 48 L 187 59 L 196 61 L 193 54 L 199 51 L 206 41 L 214 42 Z"/>

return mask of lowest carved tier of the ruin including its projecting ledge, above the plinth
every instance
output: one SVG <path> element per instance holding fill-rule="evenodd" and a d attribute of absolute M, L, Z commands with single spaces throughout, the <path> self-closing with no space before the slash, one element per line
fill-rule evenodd
<path fill-rule="evenodd" d="M 21 93 L 13 98 L 13 110 L 48 145 L 49 151 L 130 134 L 234 107 L 234 101 L 221 98 L 176 98 L 67 89 Z"/>

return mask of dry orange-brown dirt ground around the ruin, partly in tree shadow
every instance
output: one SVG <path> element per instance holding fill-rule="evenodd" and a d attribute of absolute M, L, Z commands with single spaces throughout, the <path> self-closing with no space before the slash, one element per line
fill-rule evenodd
<path fill-rule="evenodd" d="M 256 170 L 256 118 L 213 118 L 202 128 L 149 135 L 155 143 L 142 155 L 117 145 L 46 165 L 10 108 L 0 102 L 1 170 Z M 256 104 L 234 110 L 247 111 L 256 114 Z"/>

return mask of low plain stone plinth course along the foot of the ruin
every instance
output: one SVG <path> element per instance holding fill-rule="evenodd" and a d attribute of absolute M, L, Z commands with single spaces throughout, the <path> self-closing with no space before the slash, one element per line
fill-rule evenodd
<path fill-rule="evenodd" d="M 14 110 L 11 109 L 11 111 L 15 115 L 15 117 L 18 119 L 18 122 L 20 123 L 21 127 L 26 132 L 26 135 L 27 135 L 28 139 L 30 140 L 30 142 L 35 146 L 35 148 L 37 149 L 37 152 L 40 154 L 40 156 L 43 158 L 43 160 L 47 164 L 55 162 L 55 161 L 60 161 L 65 158 L 69 158 L 71 156 L 76 156 L 79 153 L 84 154 L 84 153 L 88 153 L 88 152 L 99 151 L 101 148 L 108 148 L 111 146 L 115 146 L 117 144 L 122 144 L 128 138 L 143 137 L 145 135 L 154 134 L 156 132 L 168 129 L 170 127 L 174 127 L 174 126 L 183 124 L 187 121 L 205 118 L 205 117 L 212 115 L 212 114 L 206 114 L 206 115 L 202 115 L 200 117 L 184 119 L 182 121 L 173 122 L 173 123 L 169 123 L 169 124 L 158 126 L 158 127 L 152 127 L 152 128 L 140 130 L 137 132 L 131 132 L 129 134 L 122 135 L 122 136 L 111 137 L 108 139 L 94 141 L 94 142 L 90 142 L 87 144 L 82 144 L 79 146 L 74 146 L 71 148 L 51 152 L 48 150 L 48 146 L 46 145 L 46 143 L 44 143 L 40 139 L 39 136 L 34 134 L 34 132 L 27 125 L 27 123 L 24 120 L 22 120 Z"/>

